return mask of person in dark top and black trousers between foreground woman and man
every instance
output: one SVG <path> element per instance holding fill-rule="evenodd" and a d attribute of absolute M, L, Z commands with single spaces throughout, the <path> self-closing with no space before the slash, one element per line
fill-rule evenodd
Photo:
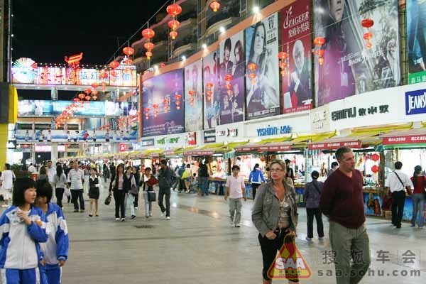
<path fill-rule="evenodd" d="M 307 214 L 307 241 L 312 241 L 314 237 L 314 216 L 317 220 L 317 233 L 318 239 L 322 241 L 324 239 L 324 225 L 322 224 L 322 215 L 320 210 L 320 200 L 323 182 L 319 182 L 318 178 L 320 173 L 316 170 L 311 173 L 312 182 L 307 182 L 305 185 L 305 192 L 303 192 L 303 200 L 306 204 Z"/>

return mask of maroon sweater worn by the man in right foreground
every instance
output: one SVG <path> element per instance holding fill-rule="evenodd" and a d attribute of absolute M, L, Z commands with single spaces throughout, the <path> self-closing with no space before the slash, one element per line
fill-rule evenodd
<path fill-rule="evenodd" d="M 359 170 L 352 178 L 335 170 L 324 182 L 320 209 L 330 221 L 350 229 L 358 229 L 366 221 L 364 214 L 363 178 Z"/>

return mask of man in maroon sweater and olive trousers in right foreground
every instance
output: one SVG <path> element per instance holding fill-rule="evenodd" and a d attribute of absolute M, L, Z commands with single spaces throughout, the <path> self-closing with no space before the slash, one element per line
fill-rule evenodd
<path fill-rule="evenodd" d="M 359 170 L 355 170 L 351 148 L 339 148 L 336 158 L 339 168 L 324 182 L 320 209 L 329 217 L 329 238 L 336 256 L 337 284 L 354 284 L 361 281 L 371 262 L 364 225 L 364 179 Z"/>

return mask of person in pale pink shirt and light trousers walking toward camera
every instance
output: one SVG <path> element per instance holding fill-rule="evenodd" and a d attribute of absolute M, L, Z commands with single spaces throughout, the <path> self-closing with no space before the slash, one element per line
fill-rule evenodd
<path fill-rule="evenodd" d="M 232 167 L 232 175 L 229 175 L 226 180 L 226 193 L 225 200 L 229 197 L 229 214 L 231 214 L 231 225 L 239 228 L 241 220 L 241 207 L 243 206 L 241 200 L 247 201 L 246 185 L 244 185 L 244 178 L 239 175 L 239 166 Z M 235 219 L 234 219 L 235 216 Z"/>

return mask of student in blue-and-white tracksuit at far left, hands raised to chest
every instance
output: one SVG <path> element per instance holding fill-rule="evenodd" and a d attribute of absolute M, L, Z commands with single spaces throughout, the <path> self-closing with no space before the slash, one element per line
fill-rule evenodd
<path fill-rule="evenodd" d="M 48 240 L 43 211 L 33 207 L 35 182 L 19 178 L 13 188 L 13 205 L 0 217 L 0 268 L 4 284 L 40 283 L 40 243 Z"/>

